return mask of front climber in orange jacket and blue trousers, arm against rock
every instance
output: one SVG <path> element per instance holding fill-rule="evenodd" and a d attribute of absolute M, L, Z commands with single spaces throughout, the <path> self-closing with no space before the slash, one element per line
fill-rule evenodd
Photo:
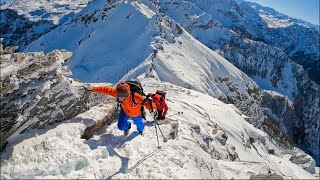
<path fill-rule="evenodd" d="M 131 128 L 131 123 L 128 119 L 131 117 L 133 122 L 137 126 L 139 134 L 142 135 L 144 129 L 144 123 L 141 116 L 141 106 L 146 107 L 148 110 L 151 110 L 150 104 L 148 101 L 144 101 L 144 98 L 138 94 L 134 93 L 134 102 L 131 99 L 130 86 L 125 82 L 119 82 L 116 88 L 108 86 L 96 86 L 92 87 L 92 92 L 101 93 L 116 97 L 117 100 L 121 103 L 121 111 L 118 120 L 118 128 L 124 131 L 124 134 L 127 135 L 129 129 Z M 155 104 L 152 103 L 152 107 L 156 108 Z M 156 112 L 152 110 L 152 112 Z"/>

